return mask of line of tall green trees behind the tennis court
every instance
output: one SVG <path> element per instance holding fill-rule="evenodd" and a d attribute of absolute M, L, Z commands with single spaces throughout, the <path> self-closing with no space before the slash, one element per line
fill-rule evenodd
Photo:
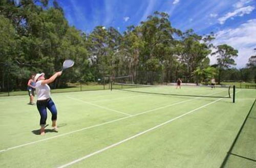
<path fill-rule="evenodd" d="M 211 77 L 218 82 L 241 78 L 240 70 L 230 69 L 236 65 L 238 50 L 227 44 L 214 46 L 213 33 L 201 36 L 191 29 L 176 29 L 164 12 L 156 11 L 123 33 L 99 25 L 86 34 L 68 24 L 56 0 L 52 4 L 48 0 L 0 1 L 1 91 L 26 89 L 31 74 L 49 76 L 66 59 L 74 60 L 75 66 L 54 83 L 55 88 L 104 76 L 131 75 L 132 82 L 143 84 L 177 78 L 197 83 Z M 216 57 L 217 64 L 210 66 L 209 57 Z M 255 62 L 252 56 L 243 80 L 256 80 Z"/>

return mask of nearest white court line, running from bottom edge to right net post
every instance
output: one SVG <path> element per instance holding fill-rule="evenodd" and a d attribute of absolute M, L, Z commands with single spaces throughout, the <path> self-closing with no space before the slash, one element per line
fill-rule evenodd
<path fill-rule="evenodd" d="M 183 116 L 186 116 L 186 115 L 188 115 L 188 114 L 190 114 L 190 113 L 193 113 L 194 111 L 196 111 L 196 110 L 198 110 L 198 109 L 201 109 L 201 108 L 203 108 L 203 107 L 205 107 L 205 106 L 207 106 L 207 105 L 213 104 L 213 103 L 215 103 L 215 102 L 217 102 L 217 101 L 220 101 L 221 99 L 223 99 L 223 98 L 220 98 L 220 99 L 218 99 L 218 100 L 215 100 L 215 101 L 212 101 L 212 102 L 210 102 L 210 103 L 207 103 L 207 104 L 205 104 L 205 105 L 203 105 L 203 106 L 200 106 L 200 107 L 198 107 L 198 108 L 196 108 L 196 109 L 193 109 L 193 110 L 191 110 L 191 111 L 188 111 L 187 113 L 185 113 L 185 114 L 183 114 L 183 115 L 180 115 L 180 116 L 178 116 L 178 117 L 176 117 L 176 118 L 170 119 L 170 120 L 168 120 L 168 121 L 166 121 L 166 122 L 164 122 L 164 123 L 161 123 L 161 124 L 159 124 L 159 125 L 157 125 L 157 126 L 155 126 L 155 127 L 152 127 L 152 128 L 147 129 L 147 130 L 145 130 L 145 131 L 143 131 L 143 132 L 137 133 L 137 134 L 135 134 L 135 135 L 133 135 L 133 136 L 131 136 L 131 137 L 128 137 L 128 138 L 126 138 L 126 139 L 123 139 L 122 141 L 120 141 L 120 142 L 118 142 L 118 143 L 112 144 L 112 145 L 110 145 L 110 146 L 108 146 L 108 147 L 105 147 L 105 148 L 103 148 L 103 149 L 101 149 L 101 150 L 98 150 L 98 151 L 96 151 L 96 152 L 93 152 L 93 153 L 91 153 L 91 154 L 89 154 L 89 155 L 83 156 L 83 157 L 81 157 L 81 158 L 79 158 L 79 159 L 76 159 L 76 160 L 74 160 L 74 161 L 72 161 L 72 162 L 69 162 L 69 163 L 67 163 L 67 164 L 61 165 L 61 166 L 59 166 L 58 168 L 67 167 L 67 166 L 69 166 L 69 165 L 75 164 L 75 163 L 77 163 L 77 162 L 79 162 L 79 161 L 82 161 L 82 160 L 84 160 L 84 159 L 87 159 L 87 158 L 89 158 L 89 157 L 91 157 L 91 156 L 93 156 L 93 155 L 96 155 L 96 154 L 98 154 L 98 153 L 101 153 L 101 152 L 103 152 L 103 151 L 105 151 L 105 150 L 108 150 L 108 149 L 113 148 L 113 147 L 115 147 L 115 146 L 118 146 L 118 145 L 120 145 L 120 144 L 122 144 L 122 143 L 125 143 L 125 142 L 127 142 L 127 141 L 130 141 L 131 139 L 133 139 L 133 138 L 135 138 L 135 137 L 138 137 L 138 136 L 140 136 L 140 135 L 142 135 L 142 134 L 145 134 L 145 133 L 150 132 L 150 131 L 152 131 L 152 130 L 154 130 L 154 129 L 157 129 L 157 128 L 159 128 L 159 127 L 165 125 L 165 124 L 168 124 L 168 123 L 170 123 L 170 122 L 172 122 L 172 121 L 174 121 L 174 120 L 177 120 L 177 119 L 179 119 L 179 118 L 181 118 L 181 117 L 183 117 Z"/>

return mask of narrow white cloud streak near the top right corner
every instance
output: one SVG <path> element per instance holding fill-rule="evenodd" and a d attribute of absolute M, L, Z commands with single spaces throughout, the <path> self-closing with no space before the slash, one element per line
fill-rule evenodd
<path fill-rule="evenodd" d="M 251 13 L 255 8 L 252 6 L 247 6 L 243 8 L 239 8 L 233 12 L 228 12 L 225 16 L 220 17 L 218 20 L 220 24 L 224 24 L 227 19 L 230 17 L 235 17 L 235 16 L 243 16 L 244 14 L 249 14 Z"/>

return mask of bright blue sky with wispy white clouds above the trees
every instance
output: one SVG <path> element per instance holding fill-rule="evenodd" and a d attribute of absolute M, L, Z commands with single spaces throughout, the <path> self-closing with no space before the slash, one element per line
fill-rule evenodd
<path fill-rule="evenodd" d="M 229 44 L 239 50 L 242 68 L 256 48 L 256 0 L 58 0 L 70 25 L 90 33 L 97 25 L 124 32 L 155 11 L 170 15 L 172 26 L 194 29 L 203 35 L 214 32 L 214 44 Z M 211 63 L 215 59 L 211 58 Z"/>

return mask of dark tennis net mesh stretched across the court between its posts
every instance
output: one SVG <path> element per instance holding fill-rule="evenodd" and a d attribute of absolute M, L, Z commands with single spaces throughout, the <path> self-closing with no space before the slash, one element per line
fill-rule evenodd
<path fill-rule="evenodd" d="M 190 96 L 190 97 L 215 97 L 230 98 L 232 89 L 230 86 L 196 86 L 182 85 L 139 85 L 132 83 L 131 76 L 115 77 L 112 79 L 112 89 L 148 93 L 157 95 Z"/>

